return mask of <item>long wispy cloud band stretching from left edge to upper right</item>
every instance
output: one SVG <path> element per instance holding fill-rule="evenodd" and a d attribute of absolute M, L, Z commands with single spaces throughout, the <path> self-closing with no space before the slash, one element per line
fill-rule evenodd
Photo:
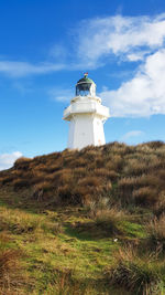
<path fill-rule="evenodd" d="M 138 62 L 162 49 L 164 41 L 165 13 L 156 17 L 113 15 L 89 19 L 80 22 L 73 31 L 72 46 L 52 45 L 47 61 L 41 63 L 1 59 L 0 73 L 21 77 L 62 70 L 94 70 L 114 55 L 121 61 Z"/>

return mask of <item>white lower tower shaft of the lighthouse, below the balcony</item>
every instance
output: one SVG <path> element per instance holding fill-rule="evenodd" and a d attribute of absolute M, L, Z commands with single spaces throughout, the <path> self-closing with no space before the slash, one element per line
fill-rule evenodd
<path fill-rule="evenodd" d="M 103 122 L 97 115 L 76 114 L 69 123 L 68 148 L 82 149 L 105 145 Z"/>

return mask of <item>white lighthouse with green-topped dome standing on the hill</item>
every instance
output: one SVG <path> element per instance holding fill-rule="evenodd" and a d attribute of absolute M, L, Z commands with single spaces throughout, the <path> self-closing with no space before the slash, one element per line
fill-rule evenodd
<path fill-rule="evenodd" d="M 64 110 L 69 122 L 68 148 L 105 145 L 103 123 L 109 118 L 109 108 L 96 96 L 96 84 L 86 73 L 76 84 L 76 96 Z"/>

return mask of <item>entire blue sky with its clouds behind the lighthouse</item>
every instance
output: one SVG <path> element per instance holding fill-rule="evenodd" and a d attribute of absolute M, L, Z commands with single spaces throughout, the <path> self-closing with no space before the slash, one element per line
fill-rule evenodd
<path fill-rule="evenodd" d="M 0 27 L 0 169 L 66 148 L 86 71 L 110 107 L 107 143 L 165 140 L 164 0 L 6 0 Z"/>

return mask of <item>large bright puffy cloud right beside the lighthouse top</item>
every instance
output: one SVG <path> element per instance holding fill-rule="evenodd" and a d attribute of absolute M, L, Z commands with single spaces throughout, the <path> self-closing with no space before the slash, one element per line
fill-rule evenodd
<path fill-rule="evenodd" d="M 165 49 L 147 56 L 132 80 L 100 96 L 114 117 L 165 114 Z"/>

